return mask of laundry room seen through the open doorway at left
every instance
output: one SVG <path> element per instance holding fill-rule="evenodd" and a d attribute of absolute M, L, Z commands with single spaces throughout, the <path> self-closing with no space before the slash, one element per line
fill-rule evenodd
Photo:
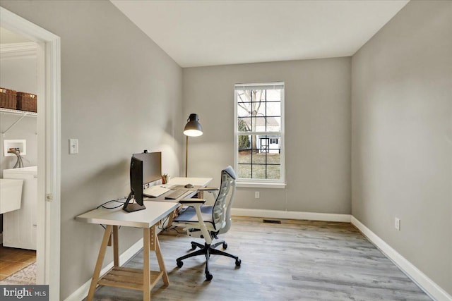
<path fill-rule="evenodd" d="M 0 27 L 4 99 L 0 107 L 0 178 L 22 181 L 20 209 L 1 211 L 0 284 L 36 283 L 37 113 L 32 102 L 37 93 L 36 47 L 30 39 Z M 15 91 L 20 91 L 20 102 Z"/>

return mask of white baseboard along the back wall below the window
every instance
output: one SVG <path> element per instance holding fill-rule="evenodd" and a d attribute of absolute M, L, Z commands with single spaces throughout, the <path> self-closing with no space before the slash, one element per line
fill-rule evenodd
<path fill-rule="evenodd" d="M 307 219 L 309 221 L 340 221 L 350 223 L 350 214 L 329 214 L 284 210 L 231 208 L 232 216 L 251 216 L 266 219 Z"/>

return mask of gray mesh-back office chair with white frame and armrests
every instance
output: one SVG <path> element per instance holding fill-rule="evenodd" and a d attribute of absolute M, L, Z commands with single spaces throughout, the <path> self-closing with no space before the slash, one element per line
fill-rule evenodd
<path fill-rule="evenodd" d="M 173 221 L 173 225 L 184 228 L 184 231 L 191 237 L 203 238 L 204 245 L 198 242 L 191 242 L 191 250 L 200 247 L 201 250 L 191 252 L 176 259 L 177 266 L 182 267 L 182 260 L 189 257 L 204 255 L 206 257 L 206 279 L 212 280 L 213 276 L 209 272 L 210 254 L 223 255 L 235 259 L 235 265 L 240 266 L 242 260 L 239 257 L 224 251 L 216 250 L 215 247 L 222 245 L 223 249 L 227 248 L 227 243 L 222 240 L 212 244 L 213 239 L 218 239 L 218 234 L 226 233 L 231 228 L 231 204 L 234 199 L 235 192 L 235 172 L 231 166 L 221 171 L 220 188 L 204 188 L 200 190 L 209 191 L 217 190 L 218 195 L 213 206 L 203 205 L 206 199 L 182 199 L 179 202 L 187 205 L 184 211 Z"/>

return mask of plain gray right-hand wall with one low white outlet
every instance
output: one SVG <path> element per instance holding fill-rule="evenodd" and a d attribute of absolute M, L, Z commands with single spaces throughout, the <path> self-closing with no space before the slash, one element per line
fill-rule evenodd
<path fill-rule="evenodd" d="M 352 214 L 452 295 L 451 54 L 452 1 L 410 1 L 353 56 Z"/>

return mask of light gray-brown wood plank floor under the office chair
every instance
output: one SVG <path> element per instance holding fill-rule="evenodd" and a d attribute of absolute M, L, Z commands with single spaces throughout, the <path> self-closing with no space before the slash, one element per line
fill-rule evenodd
<path fill-rule="evenodd" d="M 177 257 L 191 251 L 191 238 L 160 234 L 170 283 L 165 288 L 160 281 L 152 300 L 431 300 L 350 223 L 282 222 L 234 218 L 222 238 L 242 266 L 212 255 L 210 282 L 203 257 L 186 259 L 180 269 L 176 265 Z M 142 264 L 138 252 L 126 266 Z M 95 300 L 142 299 L 137 290 L 100 287 L 95 293 Z"/>

